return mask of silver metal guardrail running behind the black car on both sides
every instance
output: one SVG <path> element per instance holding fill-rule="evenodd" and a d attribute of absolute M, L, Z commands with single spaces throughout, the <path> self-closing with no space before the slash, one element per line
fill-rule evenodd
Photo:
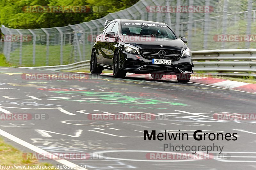
<path fill-rule="evenodd" d="M 256 77 L 256 49 L 224 49 L 192 51 L 196 71 L 211 75 Z M 68 65 L 26 67 L 45 70 L 88 70 L 90 60 Z"/>

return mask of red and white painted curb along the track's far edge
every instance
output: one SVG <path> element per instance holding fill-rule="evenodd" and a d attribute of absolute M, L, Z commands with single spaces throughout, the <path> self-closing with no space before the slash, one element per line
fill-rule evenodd
<path fill-rule="evenodd" d="M 103 75 L 113 75 L 113 73 L 102 73 Z M 152 79 L 149 74 L 133 74 L 127 73 L 126 77 L 146 78 Z M 164 80 L 177 80 L 175 75 L 164 75 Z M 209 78 L 209 77 L 196 77 L 192 76 L 190 82 L 200 83 L 204 85 L 212 85 L 216 87 L 223 87 L 227 89 L 240 90 L 244 92 L 256 93 L 256 84 L 244 83 L 238 81 L 225 80 L 220 78 Z"/>

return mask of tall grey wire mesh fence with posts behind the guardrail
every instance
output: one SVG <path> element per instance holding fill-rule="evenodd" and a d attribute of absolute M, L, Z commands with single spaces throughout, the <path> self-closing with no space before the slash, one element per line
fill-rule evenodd
<path fill-rule="evenodd" d="M 140 0 L 123 11 L 76 25 L 36 30 L 2 26 L 3 52 L 8 62 L 20 66 L 87 60 L 104 22 L 117 18 L 164 22 L 187 37 L 192 50 L 256 48 L 256 0 Z"/>

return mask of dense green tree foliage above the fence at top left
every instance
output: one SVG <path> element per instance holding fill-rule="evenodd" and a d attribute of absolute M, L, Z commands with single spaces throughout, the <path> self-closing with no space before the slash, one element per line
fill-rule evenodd
<path fill-rule="evenodd" d="M 0 24 L 10 28 L 37 29 L 67 26 L 104 17 L 120 11 L 138 0 L 0 0 Z M 103 6 L 97 13 L 29 13 L 25 6 Z"/>

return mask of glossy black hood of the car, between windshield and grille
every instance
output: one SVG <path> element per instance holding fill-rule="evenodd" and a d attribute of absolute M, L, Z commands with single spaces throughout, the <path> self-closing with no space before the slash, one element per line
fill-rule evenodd
<path fill-rule="evenodd" d="M 160 41 L 157 41 L 156 38 L 153 41 L 123 41 L 124 43 L 131 44 L 138 48 L 167 48 L 167 49 L 173 49 L 173 50 L 179 50 L 183 51 L 184 49 L 188 48 L 187 45 L 181 41 L 180 39 L 176 40 L 168 40 L 168 39 L 159 39 Z M 161 47 L 161 45 L 163 47 Z"/>

